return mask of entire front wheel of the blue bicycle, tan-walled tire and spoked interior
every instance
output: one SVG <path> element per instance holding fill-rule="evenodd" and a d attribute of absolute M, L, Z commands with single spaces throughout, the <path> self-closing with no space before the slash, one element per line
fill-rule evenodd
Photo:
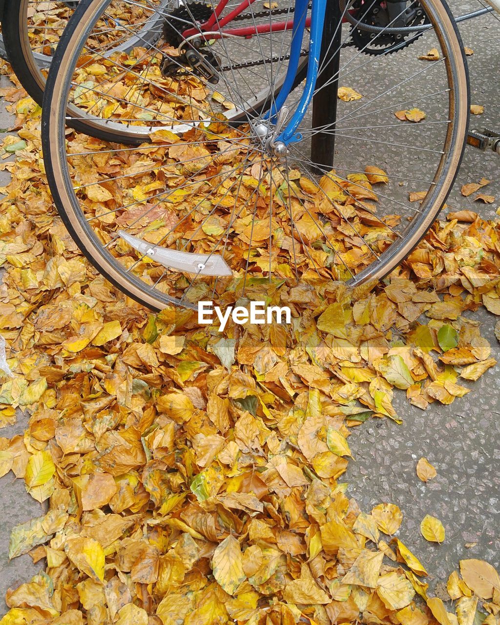
<path fill-rule="evenodd" d="M 291 53 L 291 30 L 276 24 L 291 24 L 294 5 L 281 3 L 277 14 L 249 2 L 231 20 L 228 5 L 213 13 L 199 2 L 169 10 L 84 0 L 64 32 L 44 100 L 51 191 L 89 260 L 146 306 L 227 301 L 263 284 L 378 279 L 411 252 L 446 199 L 469 103 L 444 2 L 407 2 L 397 15 L 379 0 L 343 6 L 358 23 L 334 24 L 339 44 L 319 68 L 321 76 L 341 53 L 331 79 L 340 86 L 336 124 L 306 114 L 297 141 L 277 155 L 266 111 Z M 158 17 L 159 39 L 106 54 L 109 31 L 116 42 L 139 27 L 119 14 L 139 10 Z M 428 27 L 411 45 L 388 30 L 419 16 Z M 363 29 L 370 20 L 382 31 Z M 206 22 L 211 34 L 202 34 Z M 307 31 L 301 47 L 296 83 Z M 290 114 L 300 95 L 287 99 Z M 124 144 L 66 134 L 71 106 Z M 311 157 L 319 134 L 336 138 L 332 167 Z"/>

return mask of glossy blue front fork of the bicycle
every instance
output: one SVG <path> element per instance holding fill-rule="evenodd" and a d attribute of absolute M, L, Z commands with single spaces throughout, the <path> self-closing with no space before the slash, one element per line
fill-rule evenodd
<path fill-rule="evenodd" d="M 302 139 L 302 135 L 296 133 L 296 130 L 301 124 L 302 119 L 304 119 L 309 104 L 311 104 L 314 89 L 316 89 L 327 1 L 332 0 L 312 0 L 309 33 L 309 63 L 307 65 L 306 84 L 296 110 L 281 133 L 274 139 L 276 143 L 283 143 L 287 146 L 289 143 L 294 143 Z M 269 109 L 264 116 L 264 119 L 269 119 L 273 123 L 276 123 L 279 111 L 286 102 L 297 76 L 308 8 L 309 0 L 296 0 L 288 69 L 282 88 L 276 96 L 276 100 L 272 103 L 271 109 Z"/>

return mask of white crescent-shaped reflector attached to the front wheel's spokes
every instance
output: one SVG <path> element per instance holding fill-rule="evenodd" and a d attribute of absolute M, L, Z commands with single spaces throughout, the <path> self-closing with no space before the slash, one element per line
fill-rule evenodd
<path fill-rule="evenodd" d="M 232 276 L 231 267 L 227 265 L 221 254 L 181 252 L 177 249 L 168 249 L 168 247 L 162 247 L 155 243 L 148 243 L 148 241 L 143 241 L 143 239 L 123 230 L 119 230 L 118 234 L 124 241 L 128 242 L 129 246 L 143 254 L 143 258 L 147 256 L 166 269 L 192 273 L 197 276 Z"/>

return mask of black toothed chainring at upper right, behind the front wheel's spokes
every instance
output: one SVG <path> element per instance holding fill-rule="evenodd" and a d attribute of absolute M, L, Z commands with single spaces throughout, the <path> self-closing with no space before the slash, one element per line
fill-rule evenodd
<path fill-rule="evenodd" d="M 374 2 L 369 11 L 363 16 L 362 23 L 381 28 L 387 26 L 390 22 L 389 14 L 386 8 L 387 1 L 377 0 Z M 362 6 L 362 0 L 356 0 L 354 8 L 358 11 L 365 11 Z M 425 11 L 423 11 L 423 9 L 421 9 L 417 4 L 414 14 L 410 17 L 409 21 L 407 21 L 406 26 L 418 26 L 419 24 L 428 23 L 429 19 L 427 18 Z M 350 33 L 351 41 L 349 41 L 349 44 L 356 47 L 364 54 L 379 56 L 381 54 L 392 54 L 402 50 L 421 37 L 423 33 L 424 31 L 409 32 L 406 36 L 401 35 L 399 38 L 396 34 L 382 33 L 375 36 L 371 32 L 363 30 L 362 28 L 352 26 Z"/>

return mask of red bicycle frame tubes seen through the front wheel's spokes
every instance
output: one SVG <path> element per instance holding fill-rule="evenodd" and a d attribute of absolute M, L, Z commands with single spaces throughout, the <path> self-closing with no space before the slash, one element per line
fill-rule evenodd
<path fill-rule="evenodd" d="M 256 34 L 291 31 L 293 27 L 293 20 L 287 19 L 284 21 L 269 22 L 269 24 L 255 24 L 254 26 L 243 26 L 241 28 L 229 28 L 222 30 L 224 26 L 230 24 L 235 17 L 239 16 L 245 9 L 249 8 L 255 0 L 242 0 L 242 2 L 240 2 L 235 9 L 229 12 L 226 16 L 221 17 L 222 11 L 226 8 L 227 2 L 229 2 L 229 0 L 220 0 L 214 8 L 214 12 L 210 16 L 210 19 L 204 24 L 201 24 L 199 27 L 202 32 L 210 32 L 210 39 L 220 39 L 223 34 L 236 37 L 246 37 L 249 39 Z M 346 20 L 344 19 L 343 21 Z M 308 28 L 309 26 L 311 26 L 311 17 L 307 17 L 306 19 L 306 27 Z M 196 28 L 189 28 L 183 32 L 183 37 L 191 37 L 197 34 L 199 34 L 199 30 Z"/>

